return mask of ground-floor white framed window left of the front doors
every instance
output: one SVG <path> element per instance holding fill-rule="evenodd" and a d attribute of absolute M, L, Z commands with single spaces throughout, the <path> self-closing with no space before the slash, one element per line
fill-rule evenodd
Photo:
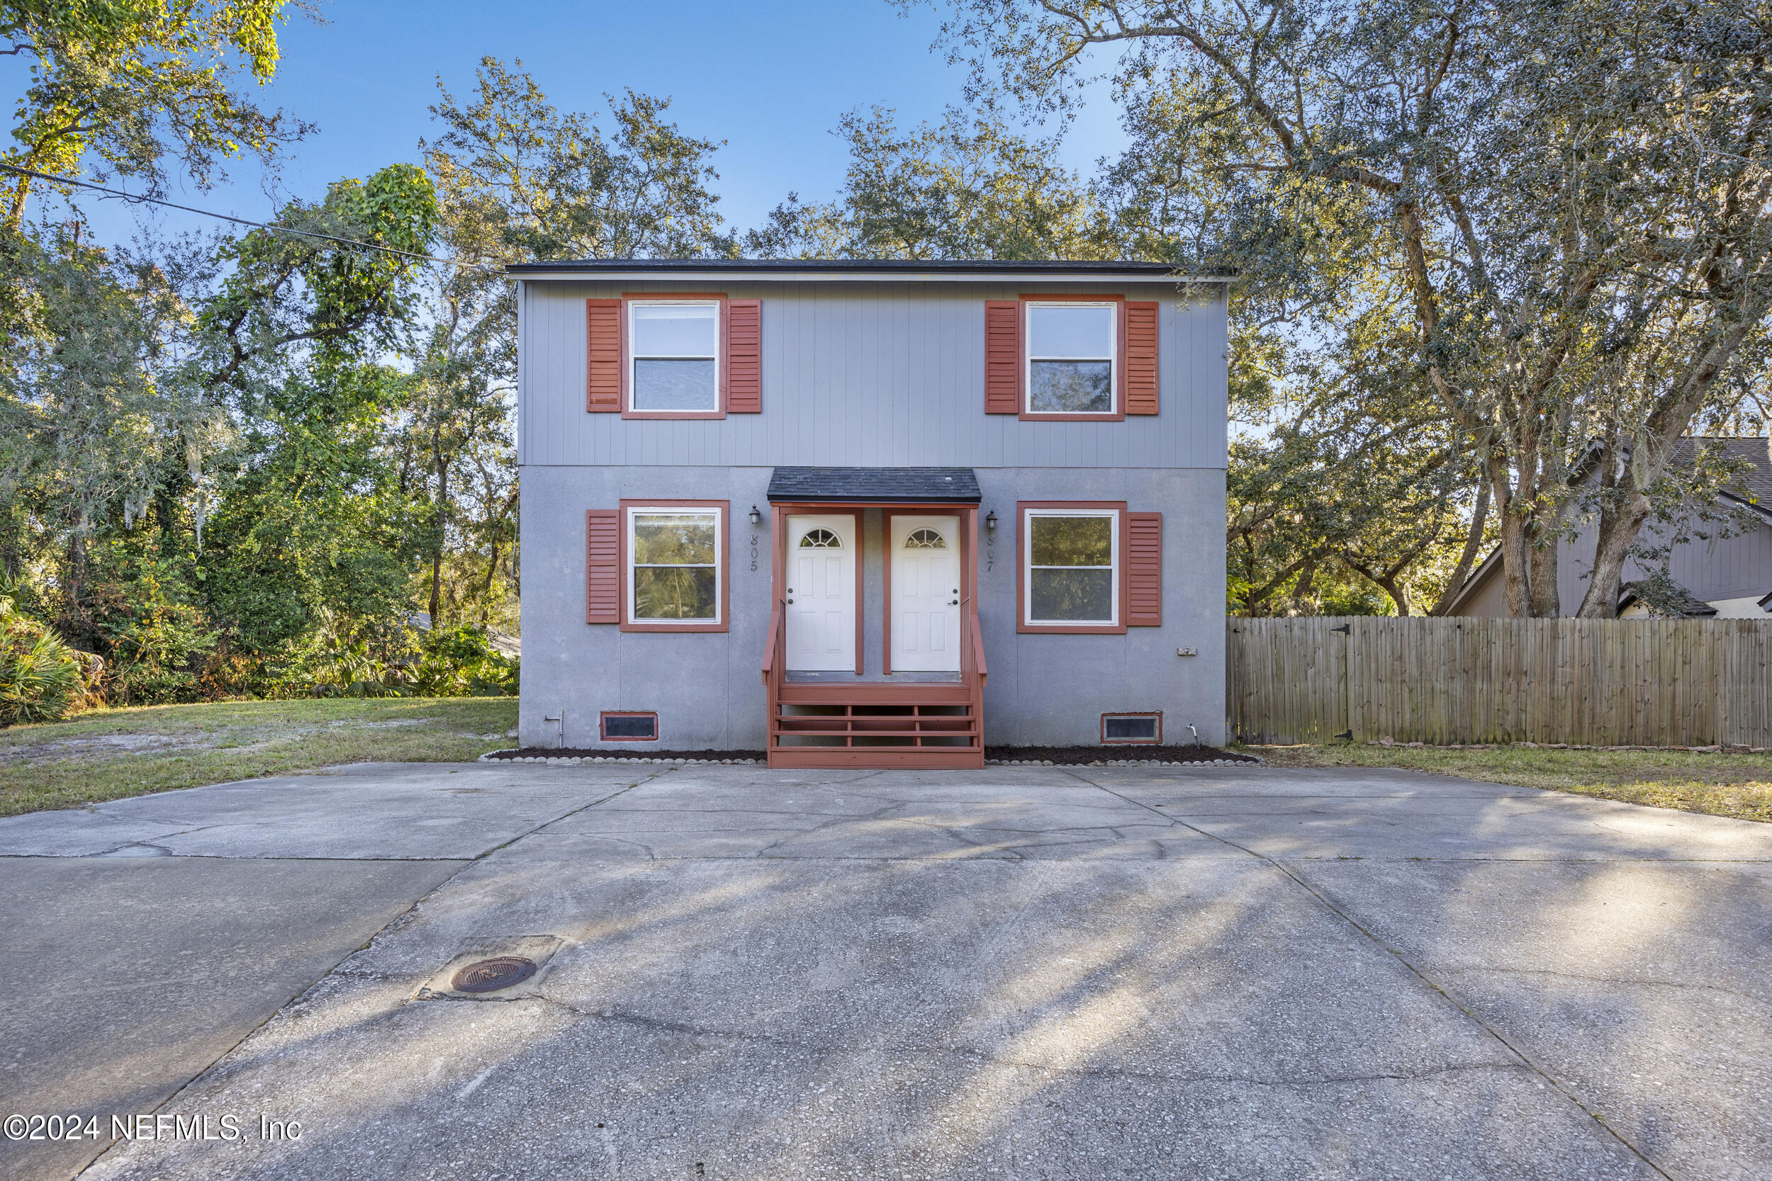
<path fill-rule="evenodd" d="M 629 506 L 627 620 L 657 627 L 725 623 L 719 508 Z"/>

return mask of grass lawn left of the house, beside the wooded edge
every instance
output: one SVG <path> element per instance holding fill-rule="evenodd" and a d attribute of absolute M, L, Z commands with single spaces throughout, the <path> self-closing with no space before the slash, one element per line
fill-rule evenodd
<path fill-rule="evenodd" d="M 337 763 L 454 763 L 516 745 L 516 698 L 229 701 L 0 729 L 0 816 Z"/>

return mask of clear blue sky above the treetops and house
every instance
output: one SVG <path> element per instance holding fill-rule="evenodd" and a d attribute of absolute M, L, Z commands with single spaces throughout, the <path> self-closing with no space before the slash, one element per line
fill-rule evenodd
<path fill-rule="evenodd" d="M 836 189 L 845 154 L 829 131 L 843 112 L 877 103 L 905 124 L 937 119 L 943 104 L 960 101 L 966 80 L 964 67 L 930 48 L 937 11 L 904 16 L 884 0 L 321 0 L 319 11 L 324 23 L 296 19 L 282 32 L 276 80 L 257 92 L 266 104 L 319 126 L 289 152 L 280 177 L 284 193 L 308 198 L 337 177 L 416 161 L 420 136 L 432 135 L 425 108 L 438 76 L 462 94 L 484 55 L 521 58 L 549 99 L 571 110 L 604 110 L 602 96 L 627 87 L 670 96 L 682 131 L 727 142 L 716 156 L 716 188 L 721 212 L 739 227 L 757 225 L 790 189 L 808 200 Z M 1120 143 L 1111 106 L 1095 103 L 1069 133 L 1065 156 L 1088 170 Z M 259 170 L 243 163 L 232 174 L 207 193 L 175 184 L 170 197 L 243 218 L 269 216 L 276 200 Z M 119 202 L 89 202 L 87 209 L 101 239 L 128 237 L 136 216 Z M 156 216 L 165 230 L 214 225 Z"/>

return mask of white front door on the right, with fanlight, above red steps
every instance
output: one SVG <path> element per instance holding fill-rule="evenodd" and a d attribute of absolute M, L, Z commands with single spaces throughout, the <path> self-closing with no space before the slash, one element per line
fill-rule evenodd
<path fill-rule="evenodd" d="M 960 671 L 960 519 L 891 517 L 891 671 Z"/>

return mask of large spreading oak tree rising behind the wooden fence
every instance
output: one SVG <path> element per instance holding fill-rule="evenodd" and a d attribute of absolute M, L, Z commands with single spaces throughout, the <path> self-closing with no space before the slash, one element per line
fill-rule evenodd
<path fill-rule="evenodd" d="M 1200 174 L 1253 228 L 1370 212 L 1421 381 L 1469 441 L 1515 614 L 1558 614 L 1556 540 L 1598 515 L 1581 614 L 1678 485 L 1676 441 L 1728 418 L 1772 308 L 1772 18 L 1751 0 L 955 0 L 980 80 L 1047 108 L 1108 74 L 1210 140 Z M 1318 221 L 1313 209 L 1324 209 Z M 1232 250 L 1221 250 L 1230 246 Z M 1598 480 L 1572 483 L 1600 450 Z"/>

